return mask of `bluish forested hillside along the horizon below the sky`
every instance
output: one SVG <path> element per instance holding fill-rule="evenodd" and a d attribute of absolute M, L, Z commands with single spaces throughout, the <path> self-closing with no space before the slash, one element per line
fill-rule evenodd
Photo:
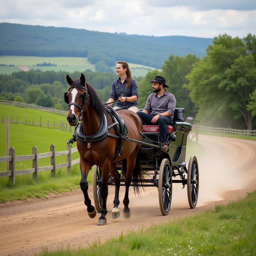
<path fill-rule="evenodd" d="M 184 38 L 169 41 L 168 38 L 136 38 L 85 29 L 11 23 L 0 23 L 0 31 L 2 56 L 88 57 L 93 64 L 104 61 L 105 72 L 108 72 L 106 66 L 113 66 L 113 63 L 119 60 L 161 68 L 166 56 L 172 54 L 186 56 L 191 53 L 203 57 L 206 54 L 205 48 L 211 41 L 205 38 L 190 38 L 192 46 L 201 46 L 195 49 L 196 47 L 189 47 L 189 41 L 185 42 Z M 182 40 L 185 42 L 184 46 L 180 46 Z"/>

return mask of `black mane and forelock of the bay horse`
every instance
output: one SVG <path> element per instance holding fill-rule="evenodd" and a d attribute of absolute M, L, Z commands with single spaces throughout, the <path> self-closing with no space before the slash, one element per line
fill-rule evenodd
<path fill-rule="evenodd" d="M 86 82 L 86 85 L 88 88 L 88 94 L 90 95 L 90 104 L 93 105 L 97 114 L 99 115 L 106 114 L 107 113 L 106 108 L 103 105 L 101 99 L 99 98 L 97 92 L 92 88 L 92 86 L 88 82 Z M 79 90 L 82 90 L 82 87 L 84 87 L 81 84 L 80 79 L 75 79 L 72 83 L 72 86 L 75 86 Z"/>

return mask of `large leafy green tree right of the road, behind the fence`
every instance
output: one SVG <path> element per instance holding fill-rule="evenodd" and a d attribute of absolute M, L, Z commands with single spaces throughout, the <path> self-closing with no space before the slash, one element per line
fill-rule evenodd
<path fill-rule="evenodd" d="M 198 108 L 199 121 L 216 124 L 221 117 L 231 121 L 243 116 L 247 128 L 252 129 L 251 111 L 246 105 L 256 80 L 254 58 L 248 47 L 238 37 L 219 35 L 208 46 L 207 56 L 194 64 L 186 87 Z"/>

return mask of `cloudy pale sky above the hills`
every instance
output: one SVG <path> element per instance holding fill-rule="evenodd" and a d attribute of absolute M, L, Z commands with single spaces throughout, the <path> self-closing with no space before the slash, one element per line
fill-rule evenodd
<path fill-rule="evenodd" d="M 0 0 L 0 23 L 213 38 L 256 34 L 255 0 Z"/>

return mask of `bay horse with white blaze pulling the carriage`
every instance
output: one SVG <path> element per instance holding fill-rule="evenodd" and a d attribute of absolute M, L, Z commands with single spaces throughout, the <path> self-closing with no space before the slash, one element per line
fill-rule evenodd
<path fill-rule="evenodd" d="M 79 115 L 82 115 L 81 119 L 83 134 L 86 136 L 92 136 L 91 141 L 77 140 L 77 149 L 80 154 L 80 187 L 84 194 L 84 204 L 87 206 L 88 215 L 90 218 L 94 218 L 96 216 L 96 209 L 91 204 L 91 200 L 88 196 L 87 176 L 92 166 L 97 165 L 102 169 L 102 208 L 101 216 L 97 225 L 106 224 L 106 199 L 108 196 L 109 174 L 113 176 L 115 183 L 115 198 L 113 201 L 114 208 L 112 213 L 115 216 L 114 218 L 116 218 L 116 216 L 120 216 L 118 206 L 120 203 L 119 189 L 121 175 L 116 168 L 116 162 L 126 159 L 126 164 L 123 165 L 123 167 L 126 167 L 126 169 L 122 169 L 122 172 L 125 174 L 123 214 L 125 218 L 130 218 L 129 187 L 131 185 L 131 179 L 143 179 L 143 173 L 140 168 L 140 160 L 138 157 L 138 151 L 140 150 L 141 145 L 125 140 L 123 145 L 123 154 L 116 157 L 112 162 L 115 150 L 118 147 L 120 140 L 115 137 L 106 136 L 101 141 L 93 141 L 93 136 L 99 131 L 104 115 L 106 116 L 107 126 L 113 124 L 110 114 L 106 111 L 105 106 L 99 99 L 95 90 L 88 82 L 86 82 L 86 79 L 82 73 L 80 79 L 75 79 L 74 81 L 69 77 L 69 75 L 67 75 L 67 82 L 70 85 L 68 93 L 64 94 L 65 101 L 69 103 L 67 120 L 71 126 L 74 126 L 79 121 Z M 128 137 L 141 141 L 142 135 L 140 132 L 143 131 L 143 126 L 140 117 L 130 110 L 120 110 L 118 113 L 127 125 Z M 113 126 L 109 128 L 108 133 L 117 135 L 117 132 Z M 135 183 L 134 191 L 136 190 L 138 192 L 138 183 Z"/>

